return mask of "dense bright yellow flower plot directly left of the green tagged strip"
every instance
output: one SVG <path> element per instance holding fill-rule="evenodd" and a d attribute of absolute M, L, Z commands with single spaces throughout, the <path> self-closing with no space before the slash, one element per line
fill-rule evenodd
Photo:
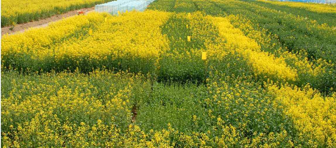
<path fill-rule="evenodd" d="M 56 62 L 61 64 L 64 59 L 70 57 L 76 66 L 82 66 L 80 63 L 85 60 L 95 65 L 118 60 L 118 65 L 121 66 L 136 62 L 140 62 L 137 64 L 139 67 L 147 66 L 169 49 L 160 28 L 168 20 L 169 15 L 166 12 L 146 11 L 113 17 L 97 26 L 90 37 L 55 46 Z M 118 67 L 118 65 L 107 66 Z"/>

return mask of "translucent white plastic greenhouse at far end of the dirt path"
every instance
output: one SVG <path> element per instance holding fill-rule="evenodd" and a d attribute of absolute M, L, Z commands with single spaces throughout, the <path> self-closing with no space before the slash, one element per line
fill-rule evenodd
<path fill-rule="evenodd" d="M 96 12 L 109 12 L 113 15 L 127 11 L 144 11 L 147 6 L 155 0 L 117 0 L 100 5 L 96 5 L 94 10 Z"/>

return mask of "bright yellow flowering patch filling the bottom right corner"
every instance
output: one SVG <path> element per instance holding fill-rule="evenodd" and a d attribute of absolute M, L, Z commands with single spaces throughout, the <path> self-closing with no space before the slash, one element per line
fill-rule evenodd
<path fill-rule="evenodd" d="M 336 94 L 323 97 L 318 91 L 306 86 L 302 90 L 290 86 L 280 89 L 268 86 L 269 94 L 276 97 L 284 107 L 284 114 L 291 116 L 299 130 L 303 147 L 336 146 Z"/>

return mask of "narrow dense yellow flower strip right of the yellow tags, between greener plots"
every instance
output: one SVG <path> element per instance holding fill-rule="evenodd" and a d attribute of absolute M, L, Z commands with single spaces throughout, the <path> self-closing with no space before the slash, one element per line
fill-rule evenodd
<path fill-rule="evenodd" d="M 234 28 L 228 19 L 208 17 L 218 27 L 219 35 L 225 39 L 226 49 L 238 52 L 252 65 L 257 75 L 275 77 L 281 81 L 296 80 L 296 70 L 287 66 L 284 58 L 277 58 L 270 53 L 261 51 L 260 46 L 254 40 L 246 37 L 241 30 Z"/>

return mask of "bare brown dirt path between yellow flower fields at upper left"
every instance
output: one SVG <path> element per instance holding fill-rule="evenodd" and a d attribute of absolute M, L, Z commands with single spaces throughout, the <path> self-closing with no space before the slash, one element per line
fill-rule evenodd
<path fill-rule="evenodd" d="M 87 10 L 86 13 L 90 13 L 94 11 L 94 7 L 91 8 L 83 8 L 83 9 L 78 9 L 78 10 Z M 58 14 L 58 15 L 54 15 L 51 16 L 49 18 L 45 18 L 45 19 L 41 19 L 38 21 L 34 21 L 34 22 L 28 22 L 28 23 L 24 23 L 24 24 L 17 24 L 13 30 L 10 30 L 11 26 L 8 27 L 2 27 L 1 28 L 1 35 L 3 34 L 15 34 L 15 33 L 19 33 L 19 32 L 25 32 L 25 30 L 29 29 L 29 28 L 42 28 L 42 27 L 46 27 L 48 26 L 48 24 L 50 22 L 55 22 L 58 20 L 61 20 L 63 18 L 67 18 L 67 17 L 71 17 L 74 15 L 78 14 L 78 10 L 74 10 L 74 11 L 69 11 L 67 13 L 64 14 Z"/>

